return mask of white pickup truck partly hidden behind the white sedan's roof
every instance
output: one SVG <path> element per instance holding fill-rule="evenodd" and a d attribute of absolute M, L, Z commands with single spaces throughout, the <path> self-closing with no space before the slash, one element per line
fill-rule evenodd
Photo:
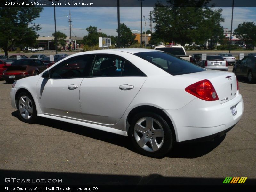
<path fill-rule="evenodd" d="M 193 63 L 192 56 L 186 54 L 186 51 L 183 46 L 172 46 L 172 45 L 156 46 L 155 49 L 171 53 L 173 55 L 176 55 L 184 60 L 187 60 L 187 61 Z"/>

